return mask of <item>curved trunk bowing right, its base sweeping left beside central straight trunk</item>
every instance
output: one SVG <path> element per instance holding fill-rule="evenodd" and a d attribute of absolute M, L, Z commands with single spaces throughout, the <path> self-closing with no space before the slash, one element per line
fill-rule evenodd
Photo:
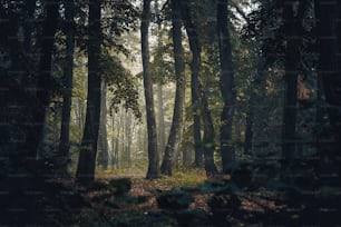
<path fill-rule="evenodd" d="M 175 105 L 173 110 L 173 120 L 168 142 L 165 148 L 164 159 L 160 171 L 164 175 L 172 176 L 172 156 L 178 149 L 181 142 L 182 125 L 183 125 L 183 107 L 185 102 L 185 62 L 183 59 L 184 49 L 182 45 L 182 21 L 179 20 L 179 8 L 176 1 L 172 0 L 172 36 L 174 47 L 175 75 L 176 75 L 176 91 Z"/>

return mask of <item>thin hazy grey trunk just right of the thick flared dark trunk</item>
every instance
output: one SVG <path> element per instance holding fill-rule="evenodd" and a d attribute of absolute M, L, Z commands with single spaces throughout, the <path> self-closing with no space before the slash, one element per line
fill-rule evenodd
<path fill-rule="evenodd" d="M 108 136 L 107 136 L 107 82 L 101 82 L 100 119 L 98 132 L 97 161 L 104 169 L 108 168 Z"/>

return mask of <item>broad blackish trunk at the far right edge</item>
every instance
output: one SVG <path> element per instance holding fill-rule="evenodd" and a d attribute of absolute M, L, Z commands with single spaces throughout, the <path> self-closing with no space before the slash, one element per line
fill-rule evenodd
<path fill-rule="evenodd" d="M 315 0 L 319 65 L 330 135 L 321 135 L 318 176 L 321 185 L 340 186 L 341 147 L 341 2 Z M 324 126 L 325 127 L 325 126 Z M 325 128 L 322 128 L 325 130 Z M 330 142 L 325 141 L 328 139 Z M 323 144 L 322 144 L 323 142 Z M 320 149 L 319 149 L 320 148 Z"/>

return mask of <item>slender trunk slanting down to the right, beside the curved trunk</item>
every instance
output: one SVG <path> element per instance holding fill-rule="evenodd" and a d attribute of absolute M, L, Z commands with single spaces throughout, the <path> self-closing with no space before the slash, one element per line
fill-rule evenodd
<path fill-rule="evenodd" d="M 179 2 L 177 0 L 177 2 Z M 185 29 L 189 40 L 189 49 L 192 51 L 192 62 L 191 62 L 191 70 L 192 70 L 192 83 L 194 83 L 195 92 L 198 97 L 198 106 L 201 110 L 201 115 L 204 121 L 204 157 L 205 157 L 205 170 L 207 177 L 212 177 L 217 174 L 217 168 L 214 164 L 213 155 L 214 155 L 214 128 L 213 128 L 213 120 L 211 117 L 211 111 L 208 109 L 207 98 L 205 96 L 203 85 L 201 81 L 201 45 L 198 40 L 198 34 L 196 29 L 193 24 L 191 14 L 189 14 L 189 7 L 187 2 L 182 2 L 181 4 L 181 14 L 184 19 Z"/>

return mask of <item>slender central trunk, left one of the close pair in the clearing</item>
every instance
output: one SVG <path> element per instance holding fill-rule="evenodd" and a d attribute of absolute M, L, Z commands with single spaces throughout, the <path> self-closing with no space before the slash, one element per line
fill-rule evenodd
<path fill-rule="evenodd" d="M 142 34 L 142 55 L 144 68 L 144 87 L 146 99 L 146 116 L 147 116 L 147 131 L 148 131 L 148 171 L 147 179 L 158 178 L 158 152 L 157 152 L 157 137 L 156 137 L 156 121 L 154 110 L 153 85 L 149 69 L 149 43 L 148 43 L 148 28 L 150 21 L 150 0 L 144 0 L 143 17 L 140 24 Z"/>

